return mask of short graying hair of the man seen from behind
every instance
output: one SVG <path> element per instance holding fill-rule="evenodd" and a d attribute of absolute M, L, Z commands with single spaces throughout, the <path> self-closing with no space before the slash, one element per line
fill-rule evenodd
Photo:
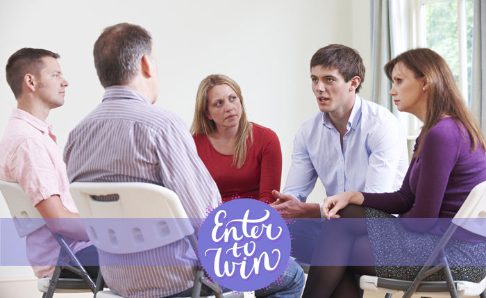
<path fill-rule="evenodd" d="M 129 83 L 140 59 L 152 51 L 150 33 L 141 26 L 121 23 L 107 27 L 94 43 L 94 67 L 104 88 Z"/>

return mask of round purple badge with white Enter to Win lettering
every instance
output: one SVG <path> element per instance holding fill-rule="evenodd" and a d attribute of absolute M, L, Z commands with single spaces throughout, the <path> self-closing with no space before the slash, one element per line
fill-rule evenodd
<path fill-rule="evenodd" d="M 199 258 L 213 281 L 253 291 L 275 281 L 290 257 L 290 233 L 274 208 L 235 199 L 212 211 L 199 232 Z"/>

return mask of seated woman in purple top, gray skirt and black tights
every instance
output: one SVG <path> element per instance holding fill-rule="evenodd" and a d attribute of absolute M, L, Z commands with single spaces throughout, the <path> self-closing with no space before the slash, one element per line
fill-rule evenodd
<path fill-rule="evenodd" d="M 389 61 L 385 73 L 397 108 L 424 122 L 408 172 L 397 192 L 324 200 L 328 219 L 348 220 L 324 223 L 303 297 L 360 297 L 354 273 L 413 280 L 469 192 L 486 181 L 486 140 L 445 60 L 412 49 Z M 399 219 L 385 220 L 394 218 L 389 213 Z M 445 254 L 454 279 L 485 278 L 485 238 L 459 228 Z"/>

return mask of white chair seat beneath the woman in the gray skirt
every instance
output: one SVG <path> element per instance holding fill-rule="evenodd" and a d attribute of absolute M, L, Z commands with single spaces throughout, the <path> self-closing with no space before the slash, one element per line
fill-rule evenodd
<path fill-rule="evenodd" d="M 360 288 L 375 292 L 400 293 L 403 295 L 412 281 L 384 279 L 378 276 L 363 275 L 360 278 Z M 478 297 L 486 288 L 486 277 L 479 283 L 470 281 L 454 281 L 459 297 Z M 445 281 L 422 281 L 415 291 L 418 297 L 451 297 Z"/>

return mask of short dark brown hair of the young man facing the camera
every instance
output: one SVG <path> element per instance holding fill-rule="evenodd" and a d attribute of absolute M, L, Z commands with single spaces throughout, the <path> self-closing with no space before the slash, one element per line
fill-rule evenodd
<path fill-rule="evenodd" d="M 346 47 L 342 44 L 329 44 L 327 47 L 319 49 L 312 59 L 310 59 L 310 68 L 317 65 L 322 67 L 336 68 L 344 76 L 344 81 L 349 82 L 351 78 L 359 76 L 361 83 L 356 88 L 356 93 L 360 92 L 361 85 L 364 82 L 363 60 L 360 53 L 355 49 Z"/>

